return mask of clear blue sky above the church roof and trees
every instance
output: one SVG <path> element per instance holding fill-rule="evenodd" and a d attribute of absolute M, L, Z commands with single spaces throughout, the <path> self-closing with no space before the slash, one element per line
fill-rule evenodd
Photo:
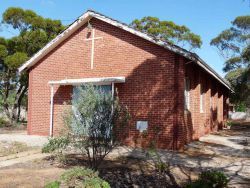
<path fill-rule="evenodd" d="M 209 45 L 210 40 L 230 27 L 235 17 L 250 14 L 248 0 L 0 0 L 0 14 L 11 6 L 32 9 L 65 25 L 87 9 L 125 23 L 143 16 L 171 20 L 201 36 L 203 45 L 195 52 L 221 75 L 224 59 Z M 12 37 L 15 33 L 11 28 L 0 28 L 0 36 Z"/>

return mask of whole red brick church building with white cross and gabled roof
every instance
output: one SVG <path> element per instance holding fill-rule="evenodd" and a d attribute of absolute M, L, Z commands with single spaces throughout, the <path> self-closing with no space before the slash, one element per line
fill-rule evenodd
<path fill-rule="evenodd" d="M 157 140 L 159 148 L 180 148 L 218 130 L 227 117 L 230 86 L 198 55 L 94 11 L 23 64 L 23 71 L 29 73 L 32 135 L 57 134 L 74 87 L 86 83 L 118 91 L 131 115 L 122 140 L 133 146 Z"/>

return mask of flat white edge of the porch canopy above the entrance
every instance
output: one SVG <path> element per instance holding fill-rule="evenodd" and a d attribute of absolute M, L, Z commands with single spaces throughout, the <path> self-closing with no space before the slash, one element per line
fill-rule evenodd
<path fill-rule="evenodd" d="M 65 79 L 59 81 L 49 81 L 50 85 L 81 85 L 81 84 L 111 84 L 125 83 L 125 77 L 102 77 L 102 78 L 82 78 L 82 79 Z"/>

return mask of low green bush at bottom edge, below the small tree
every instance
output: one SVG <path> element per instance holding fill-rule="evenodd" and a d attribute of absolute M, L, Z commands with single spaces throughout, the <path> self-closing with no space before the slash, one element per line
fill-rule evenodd
<path fill-rule="evenodd" d="M 46 188 L 57 188 L 60 184 L 67 187 L 110 188 L 108 182 L 98 177 L 98 172 L 84 167 L 75 167 L 61 175 L 60 181 L 47 184 Z"/>

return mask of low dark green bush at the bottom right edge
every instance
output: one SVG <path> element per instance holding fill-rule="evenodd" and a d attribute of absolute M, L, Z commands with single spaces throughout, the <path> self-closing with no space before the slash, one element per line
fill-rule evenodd
<path fill-rule="evenodd" d="M 225 188 L 228 182 L 229 180 L 223 172 L 204 171 L 198 180 L 188 184 L 186 188 Z"/>

